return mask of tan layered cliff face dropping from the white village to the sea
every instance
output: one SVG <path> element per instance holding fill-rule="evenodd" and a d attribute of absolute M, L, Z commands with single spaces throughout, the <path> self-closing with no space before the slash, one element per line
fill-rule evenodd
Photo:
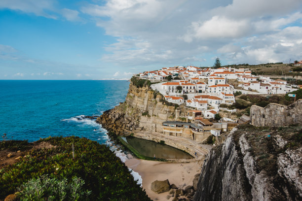
<path fill-rule="evenodd" d="M 162 132 L 161 123 L 167 120 L 175 120 L 175 106 L 149 87 L 136 87 L 130 82 L 126 101 L 105 111 L 97 122 L 108 131 L 124 134 L 141 130 Z"/>

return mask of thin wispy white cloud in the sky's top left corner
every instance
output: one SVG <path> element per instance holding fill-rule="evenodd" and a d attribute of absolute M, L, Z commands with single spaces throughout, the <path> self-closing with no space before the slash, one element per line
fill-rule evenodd
<path fill-rule="evenodd" d="M 56 16 L 47 11 L 54 10 L 53 0 L 0 0 L 0 8 L 19 10 L 25 13 L 34 13 L 38 16 L 56 19 Z"/>

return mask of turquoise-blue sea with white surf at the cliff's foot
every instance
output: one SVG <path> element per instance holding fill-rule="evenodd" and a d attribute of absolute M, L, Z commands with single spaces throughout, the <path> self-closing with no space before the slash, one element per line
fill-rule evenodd
<path fill-rule="evenodd" d="M 123 102 L 128 87 L 121 80 L 0 80 L 0 137 L 31 142 L 76 135 L 104 144 L 106 131 L 82 117 Z"/>

